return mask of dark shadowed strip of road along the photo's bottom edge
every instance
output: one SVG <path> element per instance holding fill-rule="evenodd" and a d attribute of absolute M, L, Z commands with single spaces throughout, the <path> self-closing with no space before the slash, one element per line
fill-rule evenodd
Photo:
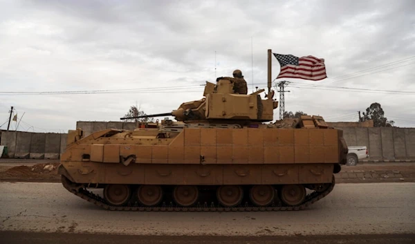
<path fill-rule="evenodd" d="M 114 234 L 75 234 L 43 232 L 0 232 L 8 244 L 413 244 L 415 234 L 353 236 L 132 236 Z"/>

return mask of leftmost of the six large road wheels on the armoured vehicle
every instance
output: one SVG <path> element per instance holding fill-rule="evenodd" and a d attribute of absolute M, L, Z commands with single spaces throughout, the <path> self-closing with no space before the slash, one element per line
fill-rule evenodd
<path fill-rule="evenodd" d="M 125 205 L 131 197 L 129 185 L 106 185 L 104 187 L 104 199 L 114 206 Z"/>

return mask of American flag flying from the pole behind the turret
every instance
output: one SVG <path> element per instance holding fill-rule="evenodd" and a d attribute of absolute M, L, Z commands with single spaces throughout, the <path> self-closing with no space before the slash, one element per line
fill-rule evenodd
<path fill-rule="evenodd" d="M 278 78 L 299 78 L 320 80 L 327 77 L 324 59 L 313 56 L 295 57 L 294 55 L 281 55 L 274 53 L 281 71 Z"/>

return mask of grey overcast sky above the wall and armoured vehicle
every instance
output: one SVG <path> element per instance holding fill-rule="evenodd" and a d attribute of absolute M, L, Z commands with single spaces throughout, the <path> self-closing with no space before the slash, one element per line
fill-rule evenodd
<path fill-rule="evenodd" d="M 325 59 L 329 78 L 322 81 L 275 80 L 293 82 L 286 110 L 356 121 L 379 102 L 396 126 L 415 126 L 414 93 L 331 87 L 415 91 L 413 0 L 0 3 L 0 92 L 135 90 L 0 95 L 0 125 L 10 106 L 19 118 L 25 113 L 19 130 L 48 132 L 75 129 L 80 120 L 119 121 L 136 102 L 147 114 L 170 112 L 236 68 L 252 92 L 266 88 L 272 49 Z M 369 68 L 377 69 L 358 73 Z M 278 73 L 273 57 L 273 79 Z"/>

